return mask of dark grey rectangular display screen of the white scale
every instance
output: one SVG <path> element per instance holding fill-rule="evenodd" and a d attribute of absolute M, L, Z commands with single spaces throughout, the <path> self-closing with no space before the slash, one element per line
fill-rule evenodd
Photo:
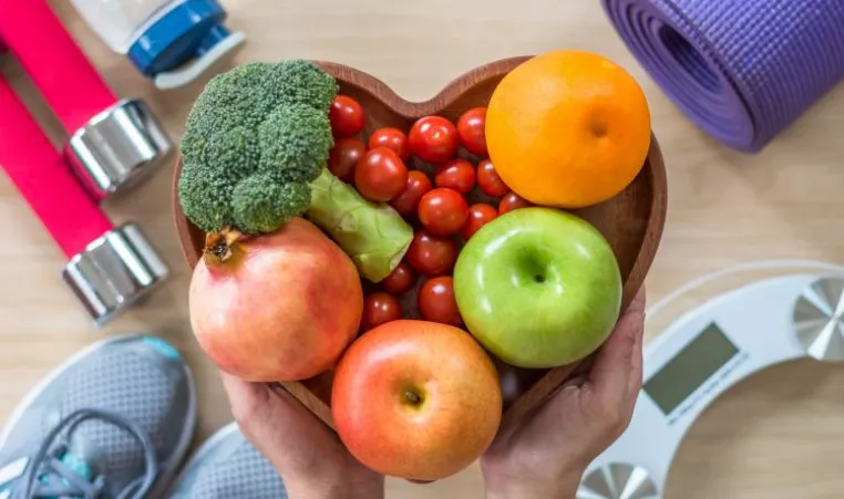
<path fill-rule="evenodd" d="M 645 392 L 667 416 L 738 353 L 711 324 L 645 383 Z"/>

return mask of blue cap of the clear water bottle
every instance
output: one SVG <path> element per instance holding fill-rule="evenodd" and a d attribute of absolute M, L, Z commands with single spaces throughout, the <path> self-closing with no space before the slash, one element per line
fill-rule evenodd
<path fill-rule="evenodd" d="M 227 39 L 225 19 L 216 0 L 185 0 L 146 28 L 128 49 L 128 58 L 148 77 L 171 71 Z"/>

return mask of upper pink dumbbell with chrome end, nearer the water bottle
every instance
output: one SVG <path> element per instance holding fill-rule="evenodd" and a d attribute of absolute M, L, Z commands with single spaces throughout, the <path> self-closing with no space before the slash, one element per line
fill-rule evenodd
<path fill-rule="evenodd" d="M 13 53 L 70 135 L 68 165 L 101 200 L 173 148 L 137 100 L 119 100 L 44 0 L 0 0 L 0 45 Z"/>

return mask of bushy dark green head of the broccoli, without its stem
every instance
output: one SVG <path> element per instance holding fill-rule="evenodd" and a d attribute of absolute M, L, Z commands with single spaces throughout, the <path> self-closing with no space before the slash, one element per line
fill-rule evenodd
<path fill-rule="evenodd" d="M 213 77 L 181 143 L 178 195 L 187 218 L 206 232 L 261 233 L 303 215 L 308 184 L 333 145 L 328 110 L 337 91 L 330 74 L 301 60 L 245 64 Z"/>

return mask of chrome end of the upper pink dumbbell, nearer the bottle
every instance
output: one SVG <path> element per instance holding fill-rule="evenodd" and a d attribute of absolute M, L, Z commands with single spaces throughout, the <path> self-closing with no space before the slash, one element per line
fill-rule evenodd
<path fill-rule="evenodd" d="M 64 157 L 89 194 L 101 200 L 131 188 L 172 149 L 173 143 L 146 104 L 124 100 L 78 129 Z"/>

